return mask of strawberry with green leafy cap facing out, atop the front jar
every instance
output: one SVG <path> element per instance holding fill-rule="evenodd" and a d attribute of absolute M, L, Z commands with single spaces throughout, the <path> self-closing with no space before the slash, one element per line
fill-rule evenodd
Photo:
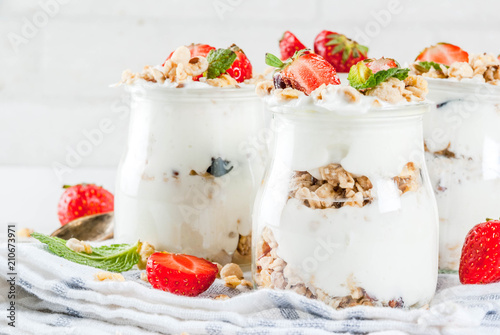
<path fill-rule="evenodd" d="M 323 30 L 314 40 L 314 52 L 323 56 L 337 72 L 349 72 L 351 66 L 366 59 L 368 48 L 342 34 Z"/>

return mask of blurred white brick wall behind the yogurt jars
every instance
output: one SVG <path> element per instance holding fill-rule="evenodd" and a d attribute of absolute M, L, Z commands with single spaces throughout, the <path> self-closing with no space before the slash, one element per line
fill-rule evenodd
<path fill-rule="evenodd" d="M 42 5 L 53 10 L 46 21 Z M 391 6 L 398 13 L 388 17 Z M 401 63 L 440 41 L 500 53 L 499 11 L 498 0 L 0 0 L 0 202 L 13 203 L 0 220 L 53 228 L 60 184 L 93 181 L 85 171 L 112 188 L 127 122 L 116 113 L 121 91 L 108 85 L 125 68 L 162 62 L 178 45 L 236 42 L 256 69 L 264 67 L 265 52 L 278 53 L 277 41 L 287 29 L 311 47 L 323 29 L 351 37 L 363 32 L 371 55 Z M 22 35 L 34 17 L 43 27 L 15 52 L 9 33 Z M 83 131 L 103 118 L 115 129 L 74 173 L 54 178 L 51 164 L 63 162 L 67 146 L 78 145 Z M 37 187 L 36 196 L 26 195 Z M 50 201 L 23 213 L 19 202 L 43 194 Z"/>

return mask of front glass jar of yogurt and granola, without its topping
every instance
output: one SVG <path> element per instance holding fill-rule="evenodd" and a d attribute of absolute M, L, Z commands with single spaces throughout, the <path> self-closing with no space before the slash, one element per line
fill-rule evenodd
<path fill-rule="evenodd" d="M 438 217 L 424 160 L 427 110 L 275 109 L 272 159 L 253 216 L 257 286 L 335 308 L 431 300 Z"/>

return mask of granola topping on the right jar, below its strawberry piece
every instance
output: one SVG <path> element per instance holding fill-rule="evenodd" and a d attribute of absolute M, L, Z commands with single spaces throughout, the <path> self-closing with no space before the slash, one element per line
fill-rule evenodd
<path fill-rule="evenodd" d="M 429 78 L 475 78 L 482 82 L 500 85 L 500 60 L 492 54 L 476 54 L 469 57 L 469 62 L 455 62 L 449 67 L 440 64 L 439 69 L 426 70 L 417 63 L 410 65 L 412 73 Z"/>

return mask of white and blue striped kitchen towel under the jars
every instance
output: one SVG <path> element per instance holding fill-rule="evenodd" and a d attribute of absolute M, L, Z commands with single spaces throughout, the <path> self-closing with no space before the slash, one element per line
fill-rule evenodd
<path fill-rule="evenodd" d="M 293 292 L 230 289 L 216 280 L 200 297 L 152 289 L 140 271 L 97 282 L 98 269 L 17 246 L 16 327 L 7 324 L 6 245 L 0 244 L 1 334 L 500 334 L 500 283 L 461 285 L 439 277 L 428 309 L 359 306 L 334 310 Z M 226 294 L 228 300 L 213 297 Z"/>

